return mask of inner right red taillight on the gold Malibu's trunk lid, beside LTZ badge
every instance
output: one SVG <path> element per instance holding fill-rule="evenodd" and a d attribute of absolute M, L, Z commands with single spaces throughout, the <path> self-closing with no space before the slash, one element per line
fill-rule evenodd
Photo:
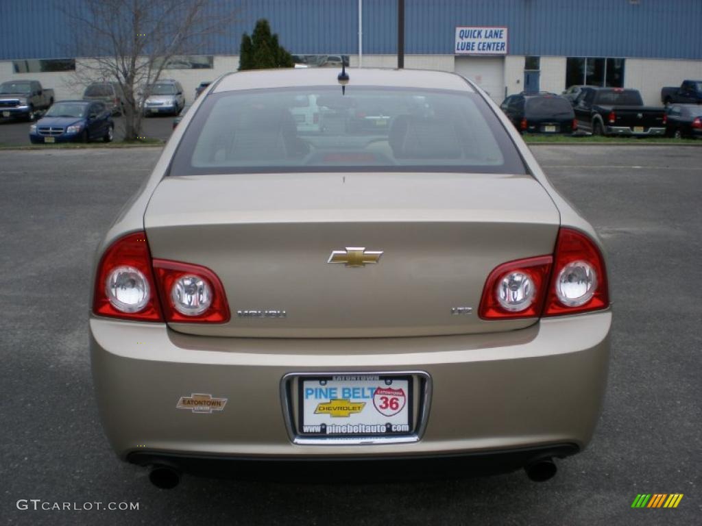
<path fill-rule="evenodd" d="M 480 318 L 504 320 L 541 316 L 552 260 L 550 255 L 528 257 L 501 264 L 494 269 L 487 278 L 480 299 Z M 524 289 L 523 286 L 526 280 L 531 281 L 528 289 Z M 510 286 L 513 290 L 510 290 Z M 505 293 L 518 294 L 521 298 L 513 298 L 516 301 L 510 306 L 509 301 L 505 301 L 509 299 L 505 298 Z M 529 301 L 525 301 L 527 296 Z"/>

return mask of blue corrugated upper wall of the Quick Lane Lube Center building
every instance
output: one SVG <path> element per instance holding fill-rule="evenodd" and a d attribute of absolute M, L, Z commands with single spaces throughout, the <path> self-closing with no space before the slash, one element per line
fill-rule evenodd
<path fill-rule="evenodd" d="M 0 60 L 74 56 L 65 11 L 81 0 L 0 0 Z M 292 53 L 357 48 L 357 0 L 213 0 L 237 10 L 227 34 L 197 54 L 236 55 L 243 32 L 267 18 Z M 702 0 L 406 0 L 405 53 L 453 54 L 456 25 L 509 28 L 514 55 L 702 60 Z M 364 53 L 397 52 L 397 2 L 363 1 Z"/>

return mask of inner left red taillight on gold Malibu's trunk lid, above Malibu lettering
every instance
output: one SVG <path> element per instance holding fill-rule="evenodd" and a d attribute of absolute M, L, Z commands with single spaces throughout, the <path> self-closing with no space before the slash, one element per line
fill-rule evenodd
<path fill-rule="evenodd" d="M 224 287 L 210 269 L 189 263 L 154 259 L 154 273 L 160 285 L 161 306 L 167 322 L 229 321 L 230 313 Z"/>

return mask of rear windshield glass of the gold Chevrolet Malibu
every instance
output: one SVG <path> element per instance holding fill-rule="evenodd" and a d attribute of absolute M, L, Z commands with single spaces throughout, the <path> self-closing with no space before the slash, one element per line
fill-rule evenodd
<path fill-rule="evenodd" d="M 305 87 L 211 95 L 171 175 L 310 171 L 525 173 L 475 93 Z"/>

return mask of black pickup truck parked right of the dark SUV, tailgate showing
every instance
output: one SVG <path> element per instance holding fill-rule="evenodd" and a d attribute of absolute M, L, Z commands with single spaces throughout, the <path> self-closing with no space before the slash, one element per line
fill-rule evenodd
<path fill-rule="evenodd" d="M 665 134 L 665 108 L 644 106 L 638 90 L 585 86 L 573 109 L 578 129 L 593 135 Z"/>

